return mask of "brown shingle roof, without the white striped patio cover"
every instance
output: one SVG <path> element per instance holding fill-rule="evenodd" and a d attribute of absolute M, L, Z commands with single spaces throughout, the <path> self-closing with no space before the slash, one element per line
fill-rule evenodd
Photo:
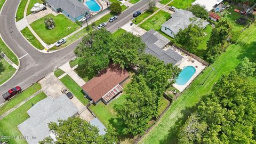
<path fill-rule="evenodd" d="M 121 69 L 118 65 L 110 64 L 107 69 L 103 69 L 99 75 L 84 84 L 82 89 L 94 102 L 97 102 L 127 77 L 129 77 L 129 73 L 126 69 Z"/>

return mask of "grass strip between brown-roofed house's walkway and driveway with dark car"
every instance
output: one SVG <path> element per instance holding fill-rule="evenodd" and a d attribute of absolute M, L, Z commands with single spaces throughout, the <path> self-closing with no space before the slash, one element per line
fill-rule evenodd
<path fill-rule="evenodd" d="M 82 88 L 69 76 L 62 77 L 60 81 L 81 101 L 85 106 L 89 103 L 89 100 L 84 98 L 85 93 Z"/>

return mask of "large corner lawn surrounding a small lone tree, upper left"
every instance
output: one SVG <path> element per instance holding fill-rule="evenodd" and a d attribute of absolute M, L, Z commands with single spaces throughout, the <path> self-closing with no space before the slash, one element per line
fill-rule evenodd
<path fill-rule="evenodd" d="M 55 22 L 54 29 L 47 29 L 45 27 L 44 18 L 48 17 L 53 18 Z M 53 14 L 48 14 L 45 17 L 34 21 L 30 26 L 46 44 L 53 44 L 61 38 L 73 33 L 78 28 L 81 28 L 77 23 L 72 22 L 63 14 L 58 14 L 56 17 Z"/>

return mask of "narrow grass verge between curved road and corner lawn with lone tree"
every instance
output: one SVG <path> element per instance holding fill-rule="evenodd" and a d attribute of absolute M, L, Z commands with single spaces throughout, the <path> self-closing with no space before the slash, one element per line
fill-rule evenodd
<path fill-rule="evenodd" d="M 44 50 L 44 46 L 38 41 L 38 39 L 36 39 L 28 27 L 22 29 L 21 34 L 25 36 L 29 43 L 35 46 L 37 49 Z"/>

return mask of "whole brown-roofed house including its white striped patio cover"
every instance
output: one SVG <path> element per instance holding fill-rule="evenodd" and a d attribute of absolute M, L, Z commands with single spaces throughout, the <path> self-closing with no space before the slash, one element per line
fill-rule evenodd
<path fill-rule="evenodd" d="M 126 69 L 110 64 L 108 68 L 101 70 L 100 74 L 84 84 L 82 89 L 94 103 L 102 100 L 107 105 L 123 91 L 121 84 L 127 78 L 129 78 L 129 73 Z"/>

